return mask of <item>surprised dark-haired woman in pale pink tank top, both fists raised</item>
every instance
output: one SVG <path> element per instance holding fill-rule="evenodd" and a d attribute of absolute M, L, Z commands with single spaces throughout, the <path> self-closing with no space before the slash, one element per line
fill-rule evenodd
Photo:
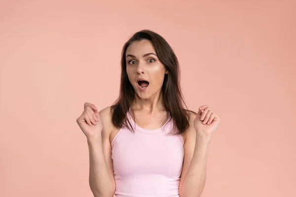
<path fill-rule="evenodd" d="M 159 34 L 143 30 L 124 45 L 120 95 L 98 112 L 84 103 L 76 120 L 89 146 L 95 197 L 199 197 L 212 133 L 207 105 L 187 110 L 179 63 Z"/>

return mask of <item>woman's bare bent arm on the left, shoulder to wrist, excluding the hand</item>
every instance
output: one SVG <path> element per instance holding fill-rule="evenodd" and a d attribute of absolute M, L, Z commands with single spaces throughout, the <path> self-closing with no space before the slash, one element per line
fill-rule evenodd
<path fill-rule="evenodd" d="M 109 136 L 112 130 L 110 107 L 99 112 L 103 130 L 87 139 L 89 148 L 89 186 L 94 197 L 113 197 L 115 181 Z"/>

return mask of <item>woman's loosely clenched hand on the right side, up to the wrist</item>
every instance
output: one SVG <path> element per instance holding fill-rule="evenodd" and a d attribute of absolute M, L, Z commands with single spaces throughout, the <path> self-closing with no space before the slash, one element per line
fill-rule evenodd
<path fill-rule="evenodd" d="M 220 118 L 213 113 L 208 105 L 202 105 L 198 109 L 194 119 L 194 129 L 198 134 L 210 137 L 218 128 Z"/>

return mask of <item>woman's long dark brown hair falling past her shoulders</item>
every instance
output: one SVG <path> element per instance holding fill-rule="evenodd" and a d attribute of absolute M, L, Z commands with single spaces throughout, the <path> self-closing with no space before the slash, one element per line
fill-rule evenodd
<path fill-rule="evenodd" d="M 131 105 L 135 99 L 135 90 L 127 76 L 125 53 L 127 47 L 133 41 L 142 39 L 148 39 L 152 42 L 158 59 L 169 71 L 164 76 L 161 88 L 163 105 L 169 114 L 165 121 L 171 119 L 174 121 L 174 126 L 170 134 L 182 133 L 189 127 L 190 110 L 187 109 L 184 96 L 181 92 L 179 62 L 168 42 L 161 35 L 150 30 L 142 30 L 135 33 L 123 46 L 121 54 L 120 93 L 118 99 L 111 106 L 112 123 L 116 128 L 125 126 L 134 132 L 126 116 L 127 112 L 131 110 Z"/>

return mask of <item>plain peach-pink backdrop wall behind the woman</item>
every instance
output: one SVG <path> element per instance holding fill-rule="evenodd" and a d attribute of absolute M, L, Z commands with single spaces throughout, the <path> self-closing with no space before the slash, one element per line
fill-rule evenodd
<path fill-rule="evenodd" d="M 180 60 L 213 136 L 202 197 L 296 196 L 296 1 L 0 1 L 0 196 L 91 197 L 84 102 L 119 91 L 120 52 L 150 29 Z"/>

